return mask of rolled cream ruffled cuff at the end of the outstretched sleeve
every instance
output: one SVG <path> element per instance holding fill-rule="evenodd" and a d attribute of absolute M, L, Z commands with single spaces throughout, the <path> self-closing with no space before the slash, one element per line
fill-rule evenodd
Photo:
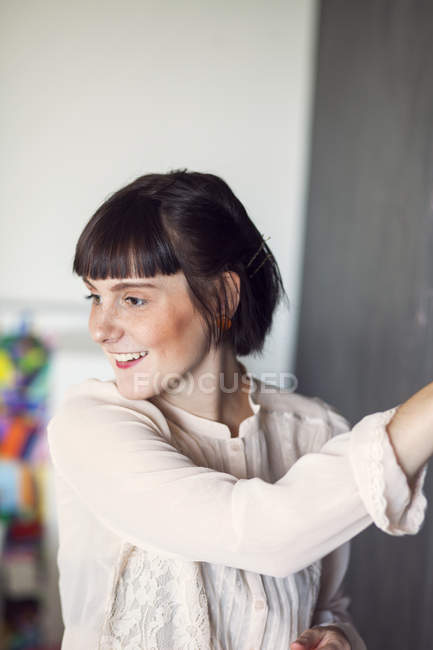
<path fill-rule="evenodd" d="M 423 524 L 427 507 L 423 492 L 427 463 L 419 469 L 411 489 L 386 431 L 399 406 L 366 415 L 355 424 L 349 458 L 375 525 L 389 535 L 415 535 Z"/>

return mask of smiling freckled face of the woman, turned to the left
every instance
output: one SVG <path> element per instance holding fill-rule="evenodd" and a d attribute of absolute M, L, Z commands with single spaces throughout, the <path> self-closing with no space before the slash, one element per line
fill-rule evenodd
<path fill-rule="evenodd" d="M 179 271 L 152 278 L 83 280 L 92 295 L 89 331 L 113 367 L 120 393 L 147 399 L 205 355 L 202 318 Z M 116 355 L 145 353 L 126 361 Z M 162 383 L 164 382 L 164 383 Z"/>

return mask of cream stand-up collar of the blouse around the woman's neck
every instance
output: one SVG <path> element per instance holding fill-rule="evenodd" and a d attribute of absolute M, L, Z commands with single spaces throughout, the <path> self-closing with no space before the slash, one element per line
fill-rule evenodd
<path fill-rule="evenodd" d="M 257 395 L 259 393 L 260 380 L 257 379 L 257 377 L 254 377 L 252 373 L 248 372 L 241 362 L 239 362 L 239 364 L 242 368 L 242 373 L 249 379 L 248 402 L 253 411 L 253 415 L 242 420 L 239 425 L 238 436 L 239 438 L 242 438 L 245 435 L 244 423 L 248 420 L 259 418 L 261 405 L 257 401 Z M 162 411 L 167 420 L 176 424 L 183 431 L 195 433 L 198 436 L 208 436 L 210 438 L 232 439 L 229 427 L 222 422 L 210 420 L 209 418 L 190 413 L 179 406 L 174 406 L 174 404 L 168 402 L 165 398 L 161 397 L 161 395 L 154 395 L 148 398 L 148 401 L 155 404 L 155 406 Z"/>

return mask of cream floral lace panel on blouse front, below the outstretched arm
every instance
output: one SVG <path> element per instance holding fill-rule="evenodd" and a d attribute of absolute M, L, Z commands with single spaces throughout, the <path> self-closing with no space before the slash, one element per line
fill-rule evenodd
<path fill-rule="evenodd" d="M 200 565 L 133 547 L 119 577 L 99 650 L 208 650 Z"/>

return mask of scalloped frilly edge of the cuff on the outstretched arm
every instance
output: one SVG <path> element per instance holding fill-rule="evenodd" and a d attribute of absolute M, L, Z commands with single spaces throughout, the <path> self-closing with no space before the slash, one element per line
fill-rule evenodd
<path fill-rule="evenodd" d="M 385 426 L 391 420 L 391 417 L 394 415 L 397 408 L 398 407 L 394 407 L 380 413 L 378 423 L 376 427 L 374 427 L 371 431 L 369 477 L 371 495 L 376 512 L 377 526 L 379 526 L 384 532 L 388 532 L 392 535 L 405 535 L 406 533 L 410 533 L 413 529 L 415 529 L 415 532 L 417 532 L 424 519 L 427 499 L 422 492 L 422 485 L 427 471 L 427 465 L 425 465 L 417 475 L 410 504 L 405 511 L 405 515 L 402 517 L 402 519 L 406 518 L 406 523 L 408 526 L 404 527 L 402 525 L 391 525 L 389 517 L 386 514 L 387 502 L 385 498 L 386 484 L 383 456 L 385 443 L 388 440 L 388 434 L 385 430 Z M 403 470 L 401 471 L 403 472 Z"/>

